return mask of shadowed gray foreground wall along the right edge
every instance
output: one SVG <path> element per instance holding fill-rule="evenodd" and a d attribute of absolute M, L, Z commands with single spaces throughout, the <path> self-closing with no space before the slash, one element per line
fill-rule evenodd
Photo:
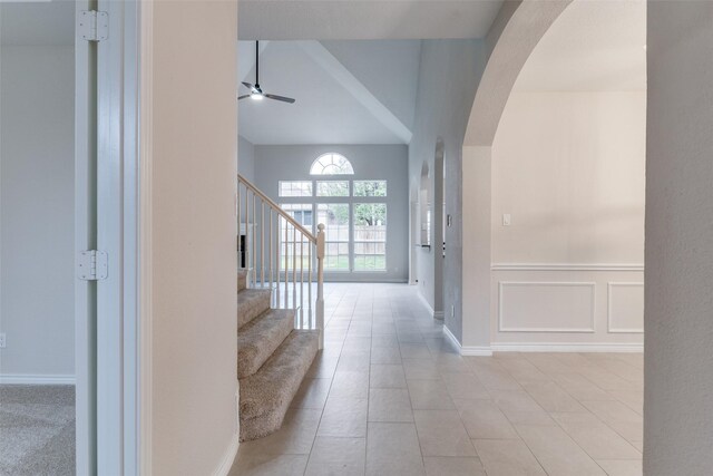
<path fill-rule="evenodd" d="M 713 3 L 648 2 L 644 474 L 713 468 Z"/>

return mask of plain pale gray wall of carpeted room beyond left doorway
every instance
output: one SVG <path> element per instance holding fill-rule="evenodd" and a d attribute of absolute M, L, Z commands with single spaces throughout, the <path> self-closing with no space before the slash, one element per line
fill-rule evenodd
<path fill-rule="evenodd" d="M 74 376 L 74 47 L 0 54 L 1 375 Z"/>

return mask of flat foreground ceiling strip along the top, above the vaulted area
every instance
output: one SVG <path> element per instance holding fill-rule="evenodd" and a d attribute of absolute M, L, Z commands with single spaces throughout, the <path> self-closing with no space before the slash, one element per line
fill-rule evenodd
<path fill-rule="evenodd" d="M 242 40 L 482 38 L 502 0 L 241 0 Z"/>

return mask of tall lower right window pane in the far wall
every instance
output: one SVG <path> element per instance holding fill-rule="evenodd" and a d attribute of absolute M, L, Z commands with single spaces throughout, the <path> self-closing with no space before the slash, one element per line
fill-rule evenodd
<path fill-rule="evenodd" d="M 354 271 L 387 270 L 387 204 L 354 204 Z"/>

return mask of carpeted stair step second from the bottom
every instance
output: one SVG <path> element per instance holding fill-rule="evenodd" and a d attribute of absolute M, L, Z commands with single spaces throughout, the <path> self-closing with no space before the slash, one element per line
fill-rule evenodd
<path fill-rule="evenodd" d="M 237 378 L 255 373 L 294 329 L 294 310 L 272 309 L 237 331 Z"/>

